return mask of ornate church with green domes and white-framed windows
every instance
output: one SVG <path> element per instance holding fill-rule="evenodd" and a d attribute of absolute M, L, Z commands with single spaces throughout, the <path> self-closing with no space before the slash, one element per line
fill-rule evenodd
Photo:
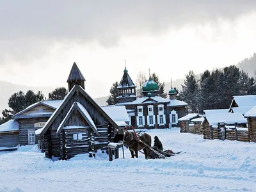
<path fill-rule="evenodd" d="M 130 125 L 134 128 L 175 127 L 178 125 L 178 118 L 186 115 L 188 104 L 176 99 L 175 90 L 170 90 L 170 99 L 159 97 L 158 84 L 148 79 L 142 86 L 143 97 L 137 98 L 135 88 L 125 67 L 124 75 L 118 85 L 119 96 L 116 106 L 125 106 Z"/>

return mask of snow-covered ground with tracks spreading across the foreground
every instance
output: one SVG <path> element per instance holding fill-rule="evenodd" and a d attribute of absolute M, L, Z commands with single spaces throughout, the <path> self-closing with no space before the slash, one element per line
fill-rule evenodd
<path fill-rule="evenodd" d="M 20 147 L 0 152 L 0 191 L 256 191 L 256 143 L 204 140 L 177 128 L 147 132 L 186 153 L 131 159 L 125 148 L 125 159 L 112 162 L 106 154 L 53 162 L 35 145 Z"/>

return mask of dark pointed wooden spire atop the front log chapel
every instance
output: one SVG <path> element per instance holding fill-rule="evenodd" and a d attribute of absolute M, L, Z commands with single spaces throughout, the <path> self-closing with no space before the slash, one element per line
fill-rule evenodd
<path fill-rule="evenodd" d="M 76 63 L 74 62 L 71 70 L 70 70 L 70 74 L 68 76 L 68 92 L 70 92 L 70 90 L 72 90 L 72 88 L 74 87 L 74 85 L 79 84 L 83 89 L 84 89 L 84 76 L 81 73 L 81 71 L 79 70 L 79 68 L 77 67 Z"/>

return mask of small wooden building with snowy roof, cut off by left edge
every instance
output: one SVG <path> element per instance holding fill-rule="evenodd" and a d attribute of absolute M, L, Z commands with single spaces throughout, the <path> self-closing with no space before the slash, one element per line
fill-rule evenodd
<path fill-rule="evenodd" d="M 13 150 L 19 146 L 19 124 L 15 120 L 0 125 L 0 151 Z"/>

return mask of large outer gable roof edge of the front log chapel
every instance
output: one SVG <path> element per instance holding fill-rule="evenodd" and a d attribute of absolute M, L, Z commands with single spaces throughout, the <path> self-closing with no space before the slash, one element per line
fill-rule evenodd
<path fill-rule="evenodd" d="M 92 97 L 90 97 L 90 95 L 88 95 L 88 93 L 78 84 L 76 84 L 72 90 L 70 90 L 70 92 L 66 95 L 65 99 L 63 100 L 61 106 L 56 109 L 56 111 L 54 111 L 54 113 L 52 114 L 52 116 L 49 118 L 49 120 L 46 122 L 46 124 L 44 125 L 44 127 L 42 128 L 42 131 L 40 132 L 40 137 L 43 136 L 43 134 L 45 133 L 45 131 L 47 131 L 47 129 L 51 126 L 52 122 L 54 122 L 54 120 L 56 119 L 56 117 L 60 114 L 61 110 L 66 106 L 67 102 L 70 100 L 70 98 L 72 97 L 72 95 L 74 95 L 76 92 L 80 92 L 83 94 L 83 96 L 88 100 L 88 102 L 90 102 L 90 104 L 92 104 L 93 107 L 95 107 L 97 109 L 97 111 L 99 111 L 99 113 L 102 114 L 102 116 L 104 116 L 104 118 L 106 118 L 115 128 L 118 128 L 118 125 L 116 125 L 115 121 L 112 120 L 112 118 L 110 118 L 108 116 L 108 114 L 102 109 L 100 108 L 100 106 L 95 102 L 95 100 L 92 99 Z"/>

